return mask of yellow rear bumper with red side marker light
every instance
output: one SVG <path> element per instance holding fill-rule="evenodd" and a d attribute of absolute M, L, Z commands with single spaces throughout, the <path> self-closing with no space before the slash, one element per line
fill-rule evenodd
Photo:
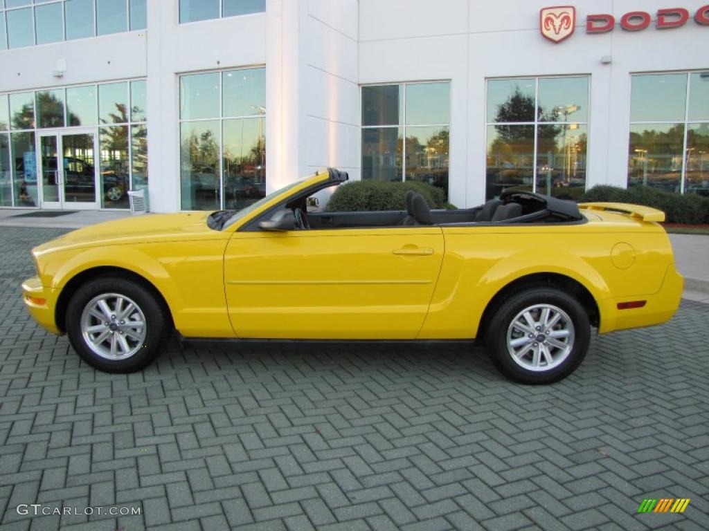
<path fill-rule="evenodd" d="M 605 300 L 605 312 L 601 314 L 599 333 L 635 329 L 642 326 L 662 324 L 672 319 L 682 299 L 684 277 L 674 268 L 667 268 L 662 287 L 652 295 L 613 297 Z M 618 303 L 644 300 L 641 308 L 618 309 Z"/>

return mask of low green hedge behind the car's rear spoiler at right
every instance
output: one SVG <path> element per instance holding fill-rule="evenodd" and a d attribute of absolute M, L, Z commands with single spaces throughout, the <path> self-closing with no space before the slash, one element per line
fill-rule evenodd
<path fill-rule="evenodd" d="M 651 186 L 632 186 L 627 190 L 598 185 L 586 191 L 579 202 L 628 202 L 657 208 L 665 213 L 669 223 L 709 223 L 709 198 L 700 195 L 665 192 Z"/>

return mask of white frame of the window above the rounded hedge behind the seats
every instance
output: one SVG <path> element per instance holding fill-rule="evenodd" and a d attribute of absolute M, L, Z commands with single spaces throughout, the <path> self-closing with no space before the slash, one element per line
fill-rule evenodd
<path fill-rule="evenodd" d="M 447 123 L 425 123 L 425 124 L 413 124 L 408 125 L 406 123 L 406 86 L 408 85 L 426 85 L 426 84 L 448 84 L 448 122 Z M 367 89 L 373 86 L 398 86 L 402 88 L 402 98 L 401 98 L 401 116 L 403 121 L 396 124 L 386 124 L 386 125 L 364 125 L 362 123 L 362 107 L 364 104 L 364 96 L 362 89 Z M 450 198 L 450 168 L 451 160 L 453 157 L 452 143 L 450 142 L 450 137 L 452 135 L 452 120 L 451 120 L 451 109 L 453 105 L 453 80 L 452 79 L 421 79 L 416 81 L 386 81 L 381 83 L 367 83 L 359 85 L 359 165 L 362 166 L 362 131 L 366 129 L 401 129 L 402 132 L 402 143 L 401 143 L 401 181 L 391 181 L 391 182 L 401 182 L 406 183 L 406 130 L 413 128 L 423 128 L 423 127 L 447 127 L 448 128 L 448 179 L 447 179 L 447 189 L 445 190 L 446 198 Z M 364 178 L 362 178 L 364 180 Z M 421 181 L 412 181 L 421 182 Z"/>

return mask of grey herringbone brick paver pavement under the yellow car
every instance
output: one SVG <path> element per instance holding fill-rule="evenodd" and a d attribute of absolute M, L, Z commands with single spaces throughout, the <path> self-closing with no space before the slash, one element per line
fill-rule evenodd
<path fill-rule="evenodd" d="M 594 338 L 549 387 L 445 346 L 173 342 L 106 375 L 20 301 L 28 250 L 60 233 L 0 234 L 4 531 L 709 529 L 709 305 Z M 644 498 L 691 502 L 638 515 Z"/>

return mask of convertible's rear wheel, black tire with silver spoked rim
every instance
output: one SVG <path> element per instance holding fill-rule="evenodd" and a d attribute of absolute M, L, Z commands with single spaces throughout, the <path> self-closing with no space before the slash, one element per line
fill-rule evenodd
<path fill-rule="evenodd" d="M 549 329 L 548 336 L 545 335 L 547 330 L 537 330 L 537 326 L 542 324 L 545 308 L 549 316 L 559 314 L 559 321 Z M 537 326 L 529 326 L 523 314 L 525 309 L 530 311 L 527 315 Z M 530 330 L 522 331 L 518 325 L 512 326 L 517 319 L 520 319 L 519 326 L 527 326 Z M 489 322 L 489 328 L 485 331 L 486 350 L 503 375 L 522 384 L 552 384 L 569 376 L 584 360 L 591 341 L 591 324 L 586 310 L 574 297 L 555 287 L 527 287 L 514 293 L 496 307 Z M 532 331 L 535 334 L 533 337 L 530 336 Z M 515 350 L 515 345 L 508 346 L 508 333 L 510 343 L 520 343 L 519 350 Z M 564 333 L 568 335 L 552 337 Z M 566 348 L 560 348 L 559 343 L 565 343 Z M 519 356 L 513 356 L 510 349 Z M 535 352 L 539 352 L 536 358 Z M 535 360 L 539 360 L 536 366 Z M 549 368 L 545 368 L 546 365 Z"/>

